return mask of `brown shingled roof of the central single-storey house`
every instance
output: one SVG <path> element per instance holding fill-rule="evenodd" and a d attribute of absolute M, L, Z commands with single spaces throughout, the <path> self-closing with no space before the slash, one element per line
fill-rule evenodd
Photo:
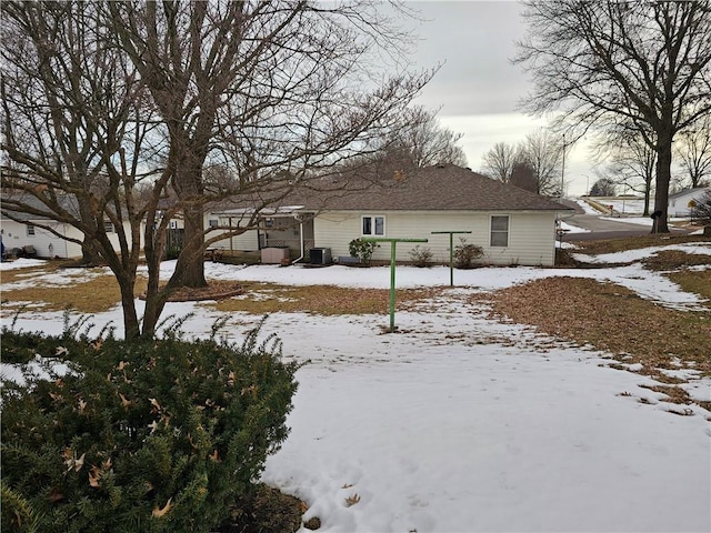
<path fill-rule="evenodd" d="M 492 180 L 469 169 L 438 165 L 351 192 L 312 194 L 306 209 L 347 211 L 568 211 L 569 207 L 513 185 Z M 334 189 L 339 185 L 334 183 Z M 353 190 L 356 189 L 356 190 Z"/>

